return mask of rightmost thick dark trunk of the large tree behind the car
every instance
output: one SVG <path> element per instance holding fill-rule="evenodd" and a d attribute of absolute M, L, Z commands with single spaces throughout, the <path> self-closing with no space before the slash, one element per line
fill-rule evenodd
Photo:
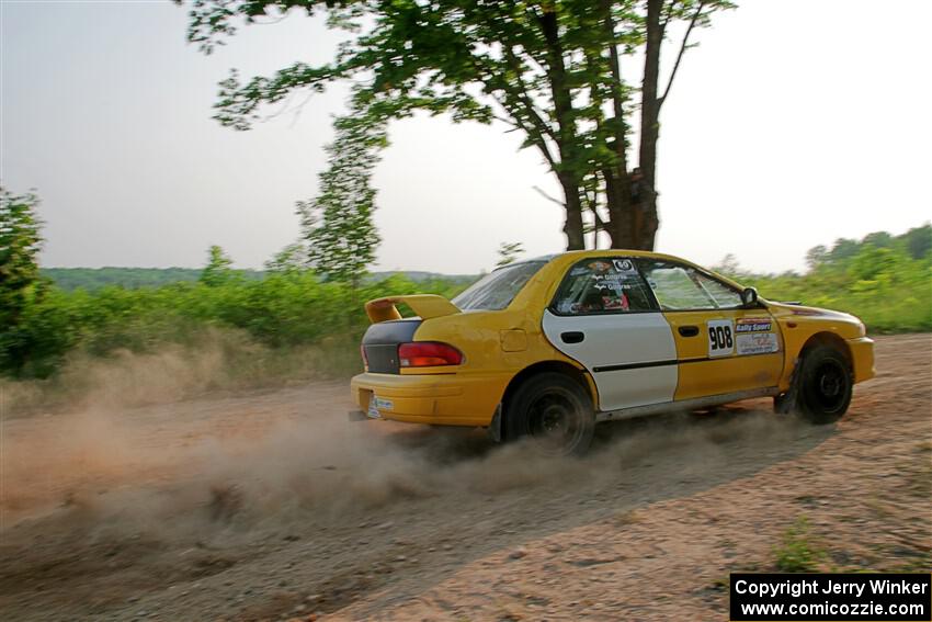
<path fill-rule="evenodd" d="M 635 244 L 641 250 L 653 250 L 657 227 L 657 139 L 660 135 L 660 101 L 657 99 L 657 83 L 660 75 L 660 45 L 663 42 L 663 29 L 660 24 L 662 0 L 647 0 L 647 43 L 644 55 L 644 81 L 641 82 L 640 104 L 640 152 L 638 156 L 644 190 L 641 204 L 635 210 Z"/>

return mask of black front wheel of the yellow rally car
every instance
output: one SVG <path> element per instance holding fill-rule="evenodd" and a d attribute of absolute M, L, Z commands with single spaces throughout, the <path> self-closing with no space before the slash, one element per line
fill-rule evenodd
<path fill-rule="evenodd" d="M 841 419 L 851 404 L 853 391 L 851 365 L 843 353 L 831 346 L 807 350 L 796 373 L 793 410 L 817 426 Z"/>

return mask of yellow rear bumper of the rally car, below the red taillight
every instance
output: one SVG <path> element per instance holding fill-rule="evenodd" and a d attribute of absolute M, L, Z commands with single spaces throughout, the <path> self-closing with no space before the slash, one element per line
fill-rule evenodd
<path fill-rule="evenodd" d="M 459 373 L 364 373 L 350 383 L 363 412 L 376 397 L 380 419 L 440 426 L 488 426 L 507 385 L 504 374 Z"/>

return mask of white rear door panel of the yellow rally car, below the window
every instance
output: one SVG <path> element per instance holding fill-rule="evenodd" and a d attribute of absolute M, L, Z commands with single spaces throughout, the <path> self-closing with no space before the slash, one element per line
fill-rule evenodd
<path fill-rule="evenodd" d="M 568 343 L 562 337 L 567 332 L 581 332 L 582 340 Z M 601 410 L 673 400 L 677 346 L 663 314 L 559 316 L 548 309 L 544 312 L 544 335 L 557 350 L 589 370 Z"/>

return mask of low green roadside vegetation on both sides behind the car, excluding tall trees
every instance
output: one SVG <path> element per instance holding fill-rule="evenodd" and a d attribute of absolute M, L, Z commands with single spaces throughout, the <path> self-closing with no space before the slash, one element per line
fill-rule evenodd
<path fill-rule="evenodd" d="M 361 365 L 357 343 L 368 324 L 366 301 L 410 293 L 453 297 L 469 283 L 462 276 L 374 278 L 366 275 L 364 265 L 336 279 L 302 261 L 305 255 L 294 248 L 257 276 L 231 269 L 223 249 L 212 247 L 197 281 L 67 291 L 37 270 L 37 204 L 32 194 L 4 191 L 0 208 L 0 373 L 12 378 L 54 376 L 78 355 L 105 359 L 166 347 L 197 350 L 206 335 L 232 335 L 225 340 L 227 350 L 248 352 L 247 344 L 252 344 L 283 360 L 300 360 L 296 352 L 312 348 L 317 372 L 344 375 Z M 513 260 L 513 255 L 504 252 L 502 260 Z M 932 330 L 930 225 L 901 236 L 880 233 L 861 241 L 838 240 L 830 249 L 812 249 L 809 262 L 806 274 L 748 274 L 734 258 L 718 268 L 771 299 L 854 313 L 874 332 Z"/>

